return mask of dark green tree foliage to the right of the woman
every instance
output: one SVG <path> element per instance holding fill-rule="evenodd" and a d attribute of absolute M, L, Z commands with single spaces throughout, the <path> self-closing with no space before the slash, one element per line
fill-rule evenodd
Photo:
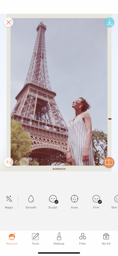
<path fill-rule="evenodd" d="M 95 165 L 104 165 L 103 161 L 107 157 L 107 134 L 94 130 L 92 131 L 92 149 L 94 153 Z"/>

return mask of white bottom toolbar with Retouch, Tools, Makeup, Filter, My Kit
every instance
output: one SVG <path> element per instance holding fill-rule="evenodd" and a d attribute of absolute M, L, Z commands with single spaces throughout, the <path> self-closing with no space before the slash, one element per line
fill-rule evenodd
<path fill-rule="evenodd" d="M 0 252 L 2 256 L 57 253 L 115 256 L 118 255 L 117 241 L 118 231 L 108 230 L 0 231 Z"/>

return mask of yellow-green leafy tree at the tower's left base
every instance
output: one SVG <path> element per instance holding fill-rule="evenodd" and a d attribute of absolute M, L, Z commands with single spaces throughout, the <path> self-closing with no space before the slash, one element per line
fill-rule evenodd
<path fill-rule="evenodd" d="M 19 165 L 22 157 L 28 157 L 31 152 L 31 138 L 28 132 L 24 132 L 22 124 L 11 120 L 11 158 L 14 165 Z"/>

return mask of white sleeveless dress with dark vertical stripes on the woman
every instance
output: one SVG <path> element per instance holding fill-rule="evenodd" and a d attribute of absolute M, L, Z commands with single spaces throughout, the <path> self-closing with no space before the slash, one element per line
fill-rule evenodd
<path fill-rule="evenodd" d="M 84 151 L 87 131 L 84 120 L 80 115 L 76 116 L 75 120 L 73 119 L 68 126 L 69 145 L 73 158 L 73 165 L 95 165 L 92 151 L 92 140 L 89 148 L 89 161 L 82 162 L 82 154 Z"/>

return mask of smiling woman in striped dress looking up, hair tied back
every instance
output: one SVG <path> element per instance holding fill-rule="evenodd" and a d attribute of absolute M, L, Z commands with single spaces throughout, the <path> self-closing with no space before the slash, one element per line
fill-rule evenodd
<path fill-rule="evenodd" d="M 69 121 L 66 161 L 71 165 L 95 165 L 92 151 L 90 104 L 83 98 L 73 101 L 75 117 Z"/>

